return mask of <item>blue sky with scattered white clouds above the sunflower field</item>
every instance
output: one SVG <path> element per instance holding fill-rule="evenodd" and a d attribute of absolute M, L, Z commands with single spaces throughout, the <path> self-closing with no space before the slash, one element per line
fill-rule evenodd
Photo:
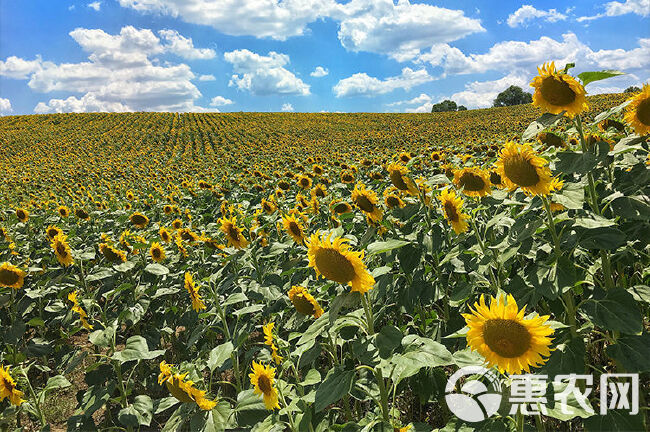
<path fill-rule="evenodd" d="M 648 82 L 650 0 L 0 2 L 5 115 L 477 108 L 548 60 Z"/>

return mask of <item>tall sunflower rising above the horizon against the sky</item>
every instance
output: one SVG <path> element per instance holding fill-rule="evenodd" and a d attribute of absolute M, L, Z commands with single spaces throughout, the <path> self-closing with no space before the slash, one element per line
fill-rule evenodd
<path fill-rule="evenodd" d="M 533 105 L 551 114 L 566 111 L 569 117 L 589 108 L 585 88 L 571 75 L 556 71 L 555 62 L 544 63 L 537 71 L 539 75 L 530 83 L 535 88 Z"/>

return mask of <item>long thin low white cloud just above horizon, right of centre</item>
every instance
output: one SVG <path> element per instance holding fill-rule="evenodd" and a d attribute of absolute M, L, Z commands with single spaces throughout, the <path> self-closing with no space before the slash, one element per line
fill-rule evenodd
<path fill-rule="evenodd" d="M 336 97 L 373 96 L 389 93 L 397 89 L 409 90 L 417 85 L 433 81 L 433 79 L 426 69 L 413 70 L 404 68 L 400 75 L 388 77 L 385 80 L 371 77 L 366 73 L 356 73 L 340 80 L 332 90 Z"/>

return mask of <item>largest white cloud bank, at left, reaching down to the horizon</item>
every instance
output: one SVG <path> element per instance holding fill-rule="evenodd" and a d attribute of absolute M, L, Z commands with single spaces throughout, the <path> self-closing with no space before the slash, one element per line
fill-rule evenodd
<path fill-rule="evenodd" d="M 35 112 L 67 111 L 197 111 L 201 97 L 186 64 L 161 65 L 159 54 L 171 48 L 148 29 L 123 27 L 111 35 L 100 29 L 78 28 L 70 36 L 88 53 L 80 63 L 27 61 L 8 58 L 3 75 L 29 79 L 37 92 L 72 93 L 40 102 Z"/>

